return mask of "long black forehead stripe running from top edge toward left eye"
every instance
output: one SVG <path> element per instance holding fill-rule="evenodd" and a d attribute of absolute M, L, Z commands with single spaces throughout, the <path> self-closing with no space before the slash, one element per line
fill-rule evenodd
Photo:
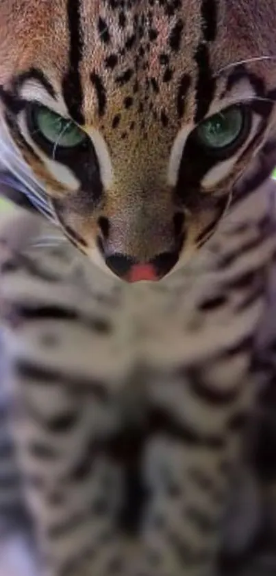
<path fill-rule="evenodd" d="M 67 25 L 70 36 L 69 66 L 62 82 L 62 91 L 71 117 L 77 124 L 84 124 L 84 115 L 81 110 L 83 93 L 79 73 L 79 63 L 83 56 L 84 43 L 81 33 L 79 0 L 67 0 Z"/>

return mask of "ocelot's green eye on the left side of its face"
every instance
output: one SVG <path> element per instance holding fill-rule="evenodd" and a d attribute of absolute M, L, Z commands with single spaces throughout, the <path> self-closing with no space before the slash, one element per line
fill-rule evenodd
<path fill-rule="evenodd" d="M 30 131 L 34 139 L 42 137 L 55 148 L 75 148 L 87 139 L 86 133 L 77 124 L 45 106 L 32 108 L 32 125 Z"/>

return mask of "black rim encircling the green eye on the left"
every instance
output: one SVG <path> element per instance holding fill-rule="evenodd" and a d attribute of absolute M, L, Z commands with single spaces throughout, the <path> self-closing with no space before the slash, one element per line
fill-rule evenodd
<path fill-rule="evenodd" d="M 47 138 L 42 132 L 41 126 L 38 124 L 38 117 L 42 111 L 48 113 L 49 117 L 52 117 L 52 119 L 56 119 L 57 123 L 60 122 L 60 130 L 57 129 L 56 139 L 53 138 L 53 140 L 51 140 Z M 45 152 L 45 154 L 47 154 L 49 157 L 54 157 L 55 159 L 60 159 L 62 161 L 63 157 L 76 154 L 76 152 L 81 152 L 81 150 L 87 150 L 90 145 L 90 139 L 81 130 L 81 128 L 78 128 L 76 124 L 73 124 L 73 122 L 70 120 L 62 118 L 57 114 L 49 111 L 45 106 L 40 104 L 29 104 L 29 106 L 27 106 L 26 119 L 29 135 L 32 137 L 36 145 L 41 148 L 41 150 Z M 64 133 L 66 133 L 66 129 L 68 130 L 66 126 L 68 126 L 68 128 L 73 126 L 73 129 L 79 131 L 81 134 L 79 141 L 76 141 L 75 145 L 71 144 L 70 146 L 66 146 L 64 145 L 64 139 L 60 139 L 62 130 L 64 130 Z"/>

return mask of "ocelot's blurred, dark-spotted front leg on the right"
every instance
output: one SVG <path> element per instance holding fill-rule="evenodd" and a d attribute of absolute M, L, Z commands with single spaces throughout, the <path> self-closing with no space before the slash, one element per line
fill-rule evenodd
<path fill-rule="evenodd" d="M 146 574 L 216 573 L 231 476 L 241 463 L 242 433 L 254 398 L 248 353 L 229 349 L 213 369 L 203 363 L 180 369 L 171 379 L 160 374 L 152 415 L 159 430 L 146 450 L 152 494 Z"/>

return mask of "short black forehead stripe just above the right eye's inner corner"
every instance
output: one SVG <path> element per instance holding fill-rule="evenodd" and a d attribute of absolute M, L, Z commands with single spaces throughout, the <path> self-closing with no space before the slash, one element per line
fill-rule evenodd
<path fill-rule="evenodd" d="M 198 124 L 208 113 L 216 87 L 216 80 L 212 76 L 210 68 L 209 49 L 206 44 L 199 44 L 195 54 L 195 61 L 198 68 L 195 123 Z"/>

